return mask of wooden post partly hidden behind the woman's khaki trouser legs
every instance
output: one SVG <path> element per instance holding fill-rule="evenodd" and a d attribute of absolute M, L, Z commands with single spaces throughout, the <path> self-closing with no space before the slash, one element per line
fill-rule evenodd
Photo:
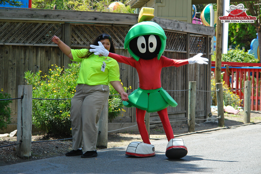
<path fill-rule="evenodd" d="M 99 122 L 98 122 L 98 137 L 97 144 L 98 148 L 107 148 L 108 145 L 108 101 L 105 104 Z"/>

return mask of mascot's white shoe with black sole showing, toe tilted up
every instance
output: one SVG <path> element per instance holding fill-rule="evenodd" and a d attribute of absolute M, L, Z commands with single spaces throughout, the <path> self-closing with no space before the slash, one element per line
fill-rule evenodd
<path fill-rule="evenodd" d="M 173 138 L 169 140 L 165 153 L 166 157 L 177 159 L 186 156 L 187 153 L 188 149 L 182 138 Z"/>

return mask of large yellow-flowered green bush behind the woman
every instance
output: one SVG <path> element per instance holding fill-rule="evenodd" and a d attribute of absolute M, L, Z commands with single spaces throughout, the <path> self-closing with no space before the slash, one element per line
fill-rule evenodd
<path fill-rule="evenodd" d="M 76 82 L 80 70 L 80 63 L 68 64 L 64 70 L 52 65 L 48 75 L 41 75 L 41 71 L 26 72 L 27 84 L 32 85 L 33 98 L 67 99 L 67 100 L 41 100 L 32 101 L 32 123 L 44 132 L 70 133 L 70 107 L 71 98 L 75 94 Z M 127 89 L 124 87 L 125 90 Z M 118 94 L 110 86 L 111 94 Z M 110 96 L 109 120 L 120 115 L 119 110 L 123 107 L 120 95 Z"/>

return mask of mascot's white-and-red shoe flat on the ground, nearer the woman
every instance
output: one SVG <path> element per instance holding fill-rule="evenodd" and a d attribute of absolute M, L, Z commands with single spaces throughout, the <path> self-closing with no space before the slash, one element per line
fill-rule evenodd
<path fill-rule="evenodd" d="M 155 156 L 155 147 L 152 144 L 146 144 L 143 142 L 131 142 L 125 155 L 134 157 L 152 157 Z"/>

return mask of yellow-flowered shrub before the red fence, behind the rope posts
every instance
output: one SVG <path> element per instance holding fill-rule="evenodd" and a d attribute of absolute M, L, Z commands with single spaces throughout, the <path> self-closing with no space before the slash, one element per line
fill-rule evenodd
<path fill-rule="evenodd" d="M 233 108 L 236 108 L 237 106 L 241 105 L 241 100 L 238 97 L 238 95 L 234 94 L 231 90 L 229 90 L 230 88 L 225 84 L 225 82 L 223 81 L 223 100 L 224 100 L 224 105 L 225 106 L 232 106 Z M 215 79 L 211 79 L 211 91 L 216 90 L 216 84 L 215 84 Z M 216 99 L 216 92 L 211 92 L 211 96 L 213 97 L 212 100 L 212 105 L 215 106 L 215 99 Z"/>

